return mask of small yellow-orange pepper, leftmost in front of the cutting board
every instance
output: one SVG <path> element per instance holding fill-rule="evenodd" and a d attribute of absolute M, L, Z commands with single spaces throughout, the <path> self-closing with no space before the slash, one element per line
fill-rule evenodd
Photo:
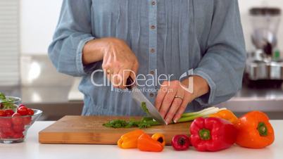
<path fill-rule="evenodd" d="M 142 134 L 144 134 L 144 131 L 142 131 L 141 129 L 123 134 L 117 141 L 117 145 L 120 148 L 137 148 L 137 139 Z"/>

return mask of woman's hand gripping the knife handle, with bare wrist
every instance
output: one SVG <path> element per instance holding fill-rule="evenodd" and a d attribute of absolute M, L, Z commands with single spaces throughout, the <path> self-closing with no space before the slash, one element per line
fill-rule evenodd
<path fill-rule="evenodd" d="M 125 89 L 127 78 L 134 79 L 137 75 L 139 63 L 137 57 L 129 46 L 117 38 L 94 39 L 84 46 L 84 64 L 101 61 L 103 71 L 107 73 L 107 78 L 113 87 Z"/>

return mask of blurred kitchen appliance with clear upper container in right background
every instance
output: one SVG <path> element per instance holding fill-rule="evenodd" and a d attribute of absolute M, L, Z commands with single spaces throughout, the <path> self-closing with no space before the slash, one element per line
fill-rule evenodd
<path fill-rule="evenodd" d="M 277 30 L 281 19 L 280 8 L 251 8 L 254 51 L 248 53 L 245 81 L 249 85 L 282 84 L 283 61 L 277 49 Z"/>

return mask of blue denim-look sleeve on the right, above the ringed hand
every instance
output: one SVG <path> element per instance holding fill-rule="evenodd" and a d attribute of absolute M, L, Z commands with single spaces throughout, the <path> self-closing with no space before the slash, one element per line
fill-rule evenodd
<path fill-rule="evenodd" d="M 210 92 L 196 101 L 212 106 L 232 98 L 241 89 L 245 61 L 238 1 L 215 0 L 206 53 L 194 70 L 206 79 Z"/>

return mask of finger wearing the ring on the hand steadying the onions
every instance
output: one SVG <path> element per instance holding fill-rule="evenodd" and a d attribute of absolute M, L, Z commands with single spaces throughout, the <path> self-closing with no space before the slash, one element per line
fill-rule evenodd
<path fill-rule="evenodd" d="M 184 97 L 184 90 L 178 89 L 176 96 L 181 96 L 183 98 Z M 174 96 L 173 102 L 170 106 L 170 110 L 165 115 L 165 122 L 166 123 L 172 122 L 172 119 L 175 116 L 175 114 L 177 113 L 177 110 L 179 109 L 181 104 L 182 104 L 182 99 L 181 98 L 175 98 L 175 96 Z"/>

